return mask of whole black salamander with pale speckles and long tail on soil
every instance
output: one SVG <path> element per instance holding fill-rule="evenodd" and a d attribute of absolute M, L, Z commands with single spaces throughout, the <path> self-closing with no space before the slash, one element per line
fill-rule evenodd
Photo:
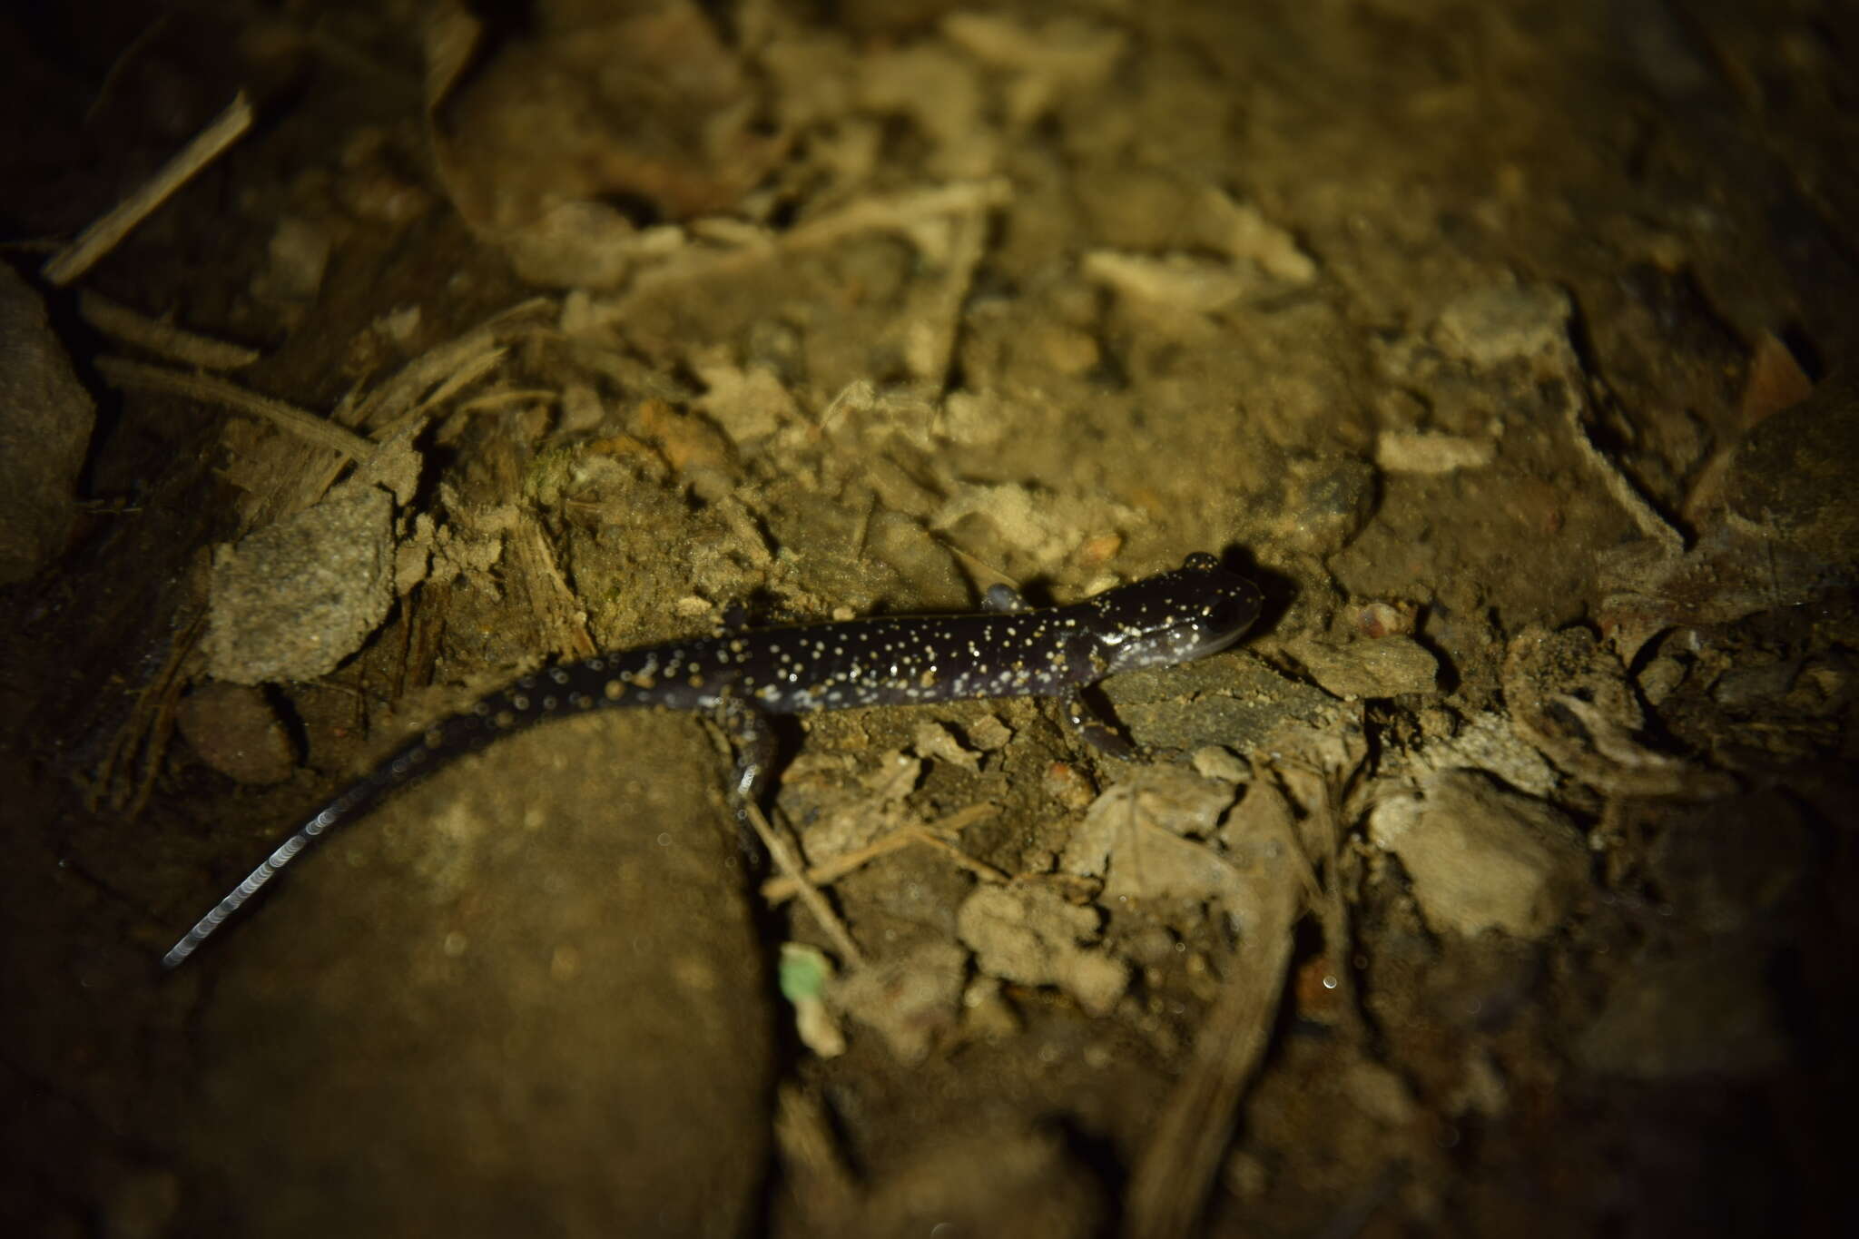
<path fill-rule="evenodd" d="M 193 955 L 292 860 L 389 793 L 454 758 L 545 719 L 602 708 L 690 710 L 734 739 L 736 804 L 760 797 L 773 763 L 770 715 L 911 706 L 976 697 L 1058 697 L 1086 741 L 1127 750 L 1080 689 L 1140 667 L 1171 667 L 1227 648 L 1259 619 L 1260 593 L 1208 554 L 1173 572 L 1084 602 L 1028 607 L 995 587 L 974 615 L 870 617 L 725 632 L 600 654 L 522 676 L 428 726 L 338 791 L 190 929 L 162 964 Z"/>

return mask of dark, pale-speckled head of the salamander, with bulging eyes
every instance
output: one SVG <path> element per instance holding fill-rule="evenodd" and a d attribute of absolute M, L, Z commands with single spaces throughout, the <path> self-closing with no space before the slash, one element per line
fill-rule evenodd
<path fill-rule="evenodd" d="M 1262 594 L 1208 554 L 1091 598 L 1104 672 L 1173 667 L 1218 654 L 1259 619 Z"/>

